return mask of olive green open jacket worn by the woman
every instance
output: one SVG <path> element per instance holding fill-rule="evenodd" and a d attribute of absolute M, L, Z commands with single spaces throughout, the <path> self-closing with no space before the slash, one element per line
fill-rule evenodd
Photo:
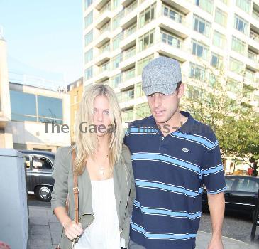
<path fill-rule="evenodd" d="M 73 194 L 73 172 L 71 147 L 57 149 L 54 161 L 53 178 L 55 184 L 52 192 L 51 208 L 65 207 L 67 192 L 69 194 L 69 213 L 72 220 L 75 219 L 75 202 Z M 94 221 L 92 210 L 92 186 L 87 169 L 78 176 L 79 188 L 79 222 L 82 228 L 87 228 Z M 121 238 L 125 239 L 126 248 L 129 242 L 130 218 L 135 199 L 135 183 L 131 164 L 131 153 L 123 144 L 121 161 L 114 166 L 114 194 L 116 198 L 116 211 L 119 219 Z M 72 240 L 64 233 L 61 235 L 60 248 L 71 248 Z"/>

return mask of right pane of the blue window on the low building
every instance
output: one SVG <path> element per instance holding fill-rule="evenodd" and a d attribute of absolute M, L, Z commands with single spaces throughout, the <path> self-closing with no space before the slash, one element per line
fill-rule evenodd
<path fill-rule="evenodd" d="M 38 95 L 38 116 L 40 122 L 62 122 L 62 99 Z M 46 120 L 45 117 L 54 120 Z"/>

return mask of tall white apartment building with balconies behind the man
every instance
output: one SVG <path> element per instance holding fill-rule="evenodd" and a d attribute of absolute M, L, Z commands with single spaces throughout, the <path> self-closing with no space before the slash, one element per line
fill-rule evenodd
<path fill-rule="evenodd" d="M 84 85 L 114 88 L 124 122 L 149 115 L 141 73 L 160 55 L 180 62 L 187 95 L 215 68 L 259 110 L 258 53 L 258 0 L 84 0 Z"/>

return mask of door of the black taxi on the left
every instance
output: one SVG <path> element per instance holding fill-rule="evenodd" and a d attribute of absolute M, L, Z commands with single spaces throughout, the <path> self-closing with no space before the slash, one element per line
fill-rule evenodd
<path fill-rule="evenodd" d="M 33 155 L 31 175 L 31 185 L 33 189 L 39 185 L 53 186 L 52 171 L 53 165 L 50 159 L 40 155 Z"/>

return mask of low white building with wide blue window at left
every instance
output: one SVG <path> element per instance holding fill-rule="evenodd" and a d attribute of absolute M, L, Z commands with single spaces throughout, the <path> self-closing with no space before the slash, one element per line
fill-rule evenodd
<path fill-rule="evenodd" d="M 70 145 L 70 96 L 47 85 L 9 83 L 6 50 L 0 36 L 0 148 L 56 152 Z"/>

